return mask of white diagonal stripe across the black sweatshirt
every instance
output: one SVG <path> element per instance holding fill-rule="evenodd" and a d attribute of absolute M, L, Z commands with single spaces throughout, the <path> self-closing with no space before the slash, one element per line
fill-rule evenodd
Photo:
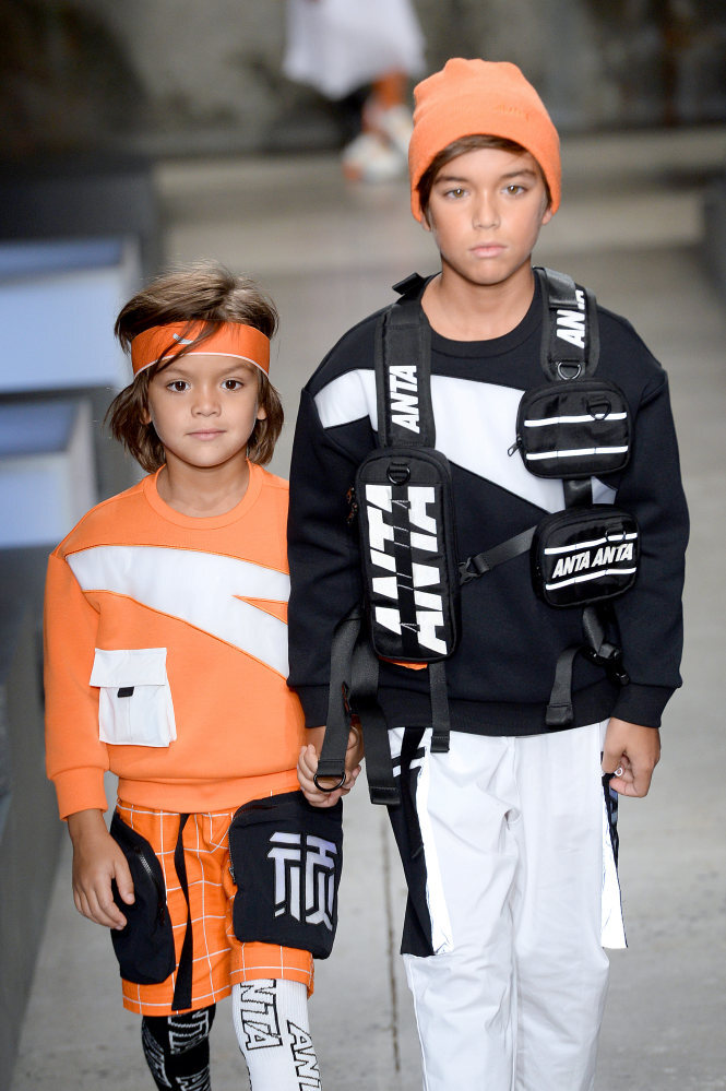
<path fill-rule="evenodd" d="M 519 453 L 508 451 L 516 438 L 516 412 L 522 391 L 473 379 L 431 376 L 436 446 L 461 466 L 500 485 L 545 511 L 564 507 L 561 481 L 535 477 Z M 359 368 L 333 379 L 316 394 L 323 428 L 369 417 L 378 430 L 376 376 Z M 595 503 L 612 503 L 615 491 L 593 478 Z"/>

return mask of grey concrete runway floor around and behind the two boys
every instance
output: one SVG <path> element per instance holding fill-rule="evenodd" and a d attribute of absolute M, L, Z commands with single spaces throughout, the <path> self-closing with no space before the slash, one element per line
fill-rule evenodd
<path fill-rule="evenodd" d="M 597 1088 L 716 1091 L 726 1089 L 726 315 L 699 245 L 703 179 L 726 164 L 726 133 L 571 140 L 564 161 L 564 204 L 536 260 L 626 313 L 667 368 L 693 519 L 686 685 L 667 710 L 651 795 L 621 805 L 630 950 L 611 960 Z M 167 258 L 221 259 L 261 280 L 279 306 L 272 375 L 289 423 L 273 469 L 286 474 L 300 386 L 338 334 L 390 299 L 390 284 L 436 268 L 430 239 L 407 212 L 405 182 L 345 187 L 333 157 L 169 163 L 157 180 Z M 414 1091 L 418 1047 L 396 956 L 404 887 L 384 815 L 365 790 L 346 805 L 346 854 L 336 949 L 319 963 L 311 1004 L 324 1084 Z M 12 1091 L 151 1089 L 138 1019 L 121 1008 L 115 976 L 108 937 L 72 906 L 67 853 Z M 222 1005 L 217 1089 L 246 1086 L 229 1023 Z"/>

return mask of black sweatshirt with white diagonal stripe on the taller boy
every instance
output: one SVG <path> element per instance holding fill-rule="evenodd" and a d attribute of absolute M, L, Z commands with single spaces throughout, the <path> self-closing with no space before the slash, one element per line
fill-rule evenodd
<path fill-rule="evenodd" d="M 461 558 L 536 524 L 563 506 L 559 481 L 524 469 L 515 440 L 522 392 L 544 380 L 539 284 L 511 333 L 451 341 L 432 332 L 437 448 L 451 464 Z M 628 466 L 593 478 L 594 501 L 615 501 L 641 529 L 634 586 L 612 604 L 630 684 L 609 681 L 576 656 L 573 726 L 619 716 L 656 727 L 680 685 L 681 591 L 688 512 L 667 377 L 624 319 L 598 308 L 597 376 L 617 383 L 633 418 Z M 346 493 L 376 446 L 377 315 L 346 333 L 302 391 L 290 472 L 290 675 L 308 726 L 325 723 L 336 624 L 360 601 L 358 531 Z M 560 652 L 582 640 L 582 610 L 554 609 L 533 590 L 525 554 L 462 589 L 462 638 L 447 662 L 451 725 L 484 735 L 547 731 L 545 710 Z M 390 727 L 430 725 L 426 671 L 381 664 L 379 698 Z"/>

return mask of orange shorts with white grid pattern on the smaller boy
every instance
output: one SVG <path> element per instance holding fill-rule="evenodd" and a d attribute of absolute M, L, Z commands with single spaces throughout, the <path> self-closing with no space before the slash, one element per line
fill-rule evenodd
<path fill-rule="evenodd" d="M 166 884 L 174 928 L 177 968 L 187 929 L 187 900 L 174 866 L 179 815 L 118 801 L 127 826 L 146 838 L 156 853 Z M 190 815 L 183 831 L 185 862 L 192 920 L 193 970 L 190 1010 L 206 1008 L 228 996 L 237 982 L 261 977 L 300 981 L 312 993 L 313 962 L 309 951 L 272 944 L 242 944 L 233 932 L 231 906 L 237 887 L 229 873 L 227 833 L 234 810 Z M 122 979 L 123 1007 L 143 1016 L 172 1013 L 177 970 L 158 985 Z"/>

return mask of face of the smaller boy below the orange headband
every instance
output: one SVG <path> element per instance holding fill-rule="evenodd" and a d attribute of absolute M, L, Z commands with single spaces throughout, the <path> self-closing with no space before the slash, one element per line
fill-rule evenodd
<path fill-rule="evenodd" d="M 145 424 L 153 424 L 167 463 L 194 469 L 243 460 L 257 420 L 257 369 L 234 356 L 182 356 L 148 383 Z"/>

